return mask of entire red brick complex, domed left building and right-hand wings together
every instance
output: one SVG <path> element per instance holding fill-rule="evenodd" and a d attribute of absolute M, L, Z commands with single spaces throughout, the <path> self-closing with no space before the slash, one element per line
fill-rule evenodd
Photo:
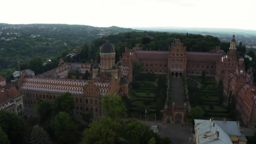
<path fill-rule="evenodd" d="M 172 43 L 169 51 L 142 50 L 139 44 L 134 48 L 125 48 L 120 62 L 115 64 L 115 49 L 110 43 L 104 43 L 100 50 L 101 61 L 91 63 L 65 63 L 59 61 L 59 67 L 36 77 L 22 73 L 19 90 L 24 96 L 24 106 L 34 107 L 40 99 L 54 100 L 61 93 L 69 91 L 75 99 L 74 111 L 93 112 L 95 116 L 102 114 L 100 99 L 105 93 L 128 95 L 128 85 L 133 80 L 132 61 L 142 65 L 141 73 L 171 74 L 173 77 L 182 75 L 213 76 L 217 81 L 223 80 L 224 93 L 229 91 L 237 96 L 239 88 L 252 83 L 252 69 L 245 71 L 243 58 L 237 59 L 236 40 L 233 35 L 228 53 L 216 47 L 210 52 L 190 52 L 180 40 Z M 84 74 L 90 72 L 89 80 L 82 77 L 67 78 L 71 72 Z M 251 101 L 253 101 L 251 99 Z M 183 107 L 183 106 L 181 106 Z"/>

